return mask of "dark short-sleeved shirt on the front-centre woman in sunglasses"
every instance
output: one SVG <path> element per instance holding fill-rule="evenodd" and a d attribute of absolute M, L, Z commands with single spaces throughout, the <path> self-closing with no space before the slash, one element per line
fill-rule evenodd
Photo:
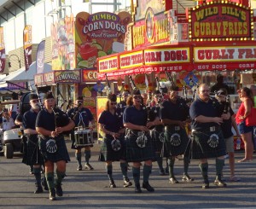
<path fill-rule="evenodd" d="M 138 110 L 134 106 L 125 108 L 124 113 L 124 124 L 131 123 L 133 125 L 147 125 L 148 113 L 146 107 L 142 107 Z"/>

